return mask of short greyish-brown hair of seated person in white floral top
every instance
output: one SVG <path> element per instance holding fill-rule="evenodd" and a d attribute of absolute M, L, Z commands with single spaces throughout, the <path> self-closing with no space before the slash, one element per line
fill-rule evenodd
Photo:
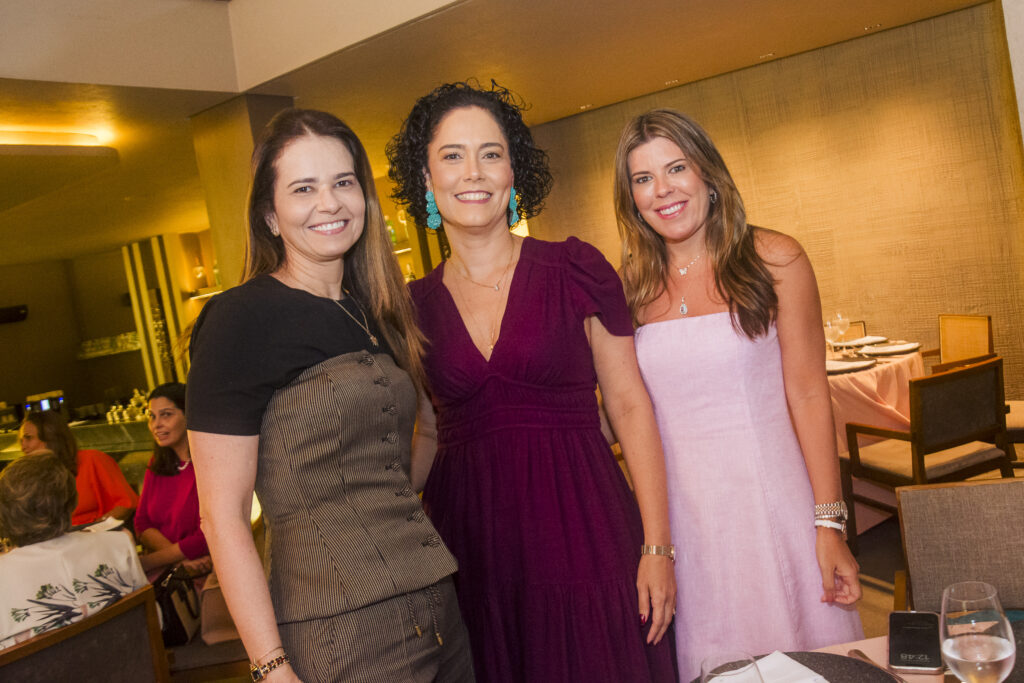
<path fill-rule="evenodd" d="M 49 451 L 23 456 L 0 473 L 0 538 L 13 547 L 71 530 L 78 505 L 75 475 Z"/>

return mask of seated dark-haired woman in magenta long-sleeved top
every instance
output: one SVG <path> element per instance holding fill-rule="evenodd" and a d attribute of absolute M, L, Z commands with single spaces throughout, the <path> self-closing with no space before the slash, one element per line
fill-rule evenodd
<path fill-rule="evenodd" d="M 142 568 L 151 580 L 171 564 L 181 563 L 194 575 L 209 573 L 212 567 L 199 527 L 184 409 L 184 384 L 161 384 L 150 393 L 150 431 L 157 445 L 142 482 L 135 535 L 145 551 Z"/>

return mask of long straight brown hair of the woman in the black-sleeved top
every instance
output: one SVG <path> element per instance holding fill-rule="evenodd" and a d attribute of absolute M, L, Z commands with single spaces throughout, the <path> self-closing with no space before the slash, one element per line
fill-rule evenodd
<path fill-rule="evenodd" d="M 352 155 L 355 177 L 366 201 L 362 234 L 345 254 L 342 287 L 370 309 L 384 334 L 395 361 L 409 373 L 417 389 L 423 390 L 425 375 L 421 356 L 423 334 L 416 326 L 413 303 L 398 262 L 391 253 L 384 215 L 370 160 L 359 138 L 337 117 L 314 110 L 285 110 L 266 125 L 253 152 L 252 184 L 249 190 L 249 240 L 243 282 L 271 273 L 285 263 L 285 244 L 270 232 L 267 216 L 273 213 L 273 186 L 278 159 L 289 142 L 306 135 L 333 137 Z"/>

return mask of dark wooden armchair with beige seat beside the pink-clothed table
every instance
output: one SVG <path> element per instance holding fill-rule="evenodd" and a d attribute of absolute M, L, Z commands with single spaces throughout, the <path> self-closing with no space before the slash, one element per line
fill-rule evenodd
<path fill-rule="evenodd" d="M 861 446 L 857 443 L 859 434 L 884 440 Z M 850 492 L 853 501 L 887 512 L 896 510 L 853 494 L 849 477 L 889 489 L 961 481 L 992 470 L 1012 477 L 1013 468 L 1007 456 L 1002 358 L 996 356 L 910 380 L 909 431 L 851 422 L 846 426 L 846 436 L 850 452 L 842 468 L 847 479 L 844 492 Z M 854 537 L 855 518 L 851 518 L 848 527 Z"/>

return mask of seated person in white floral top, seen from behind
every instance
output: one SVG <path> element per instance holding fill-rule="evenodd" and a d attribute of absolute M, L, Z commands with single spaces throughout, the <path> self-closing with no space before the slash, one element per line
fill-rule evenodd
<path fill-rule="evenodd" d="M 71 531 L 77 502 L 75 476 L 51 453 L 0 472 L 0 649 L 147 585 L 127 532 Z"/>

